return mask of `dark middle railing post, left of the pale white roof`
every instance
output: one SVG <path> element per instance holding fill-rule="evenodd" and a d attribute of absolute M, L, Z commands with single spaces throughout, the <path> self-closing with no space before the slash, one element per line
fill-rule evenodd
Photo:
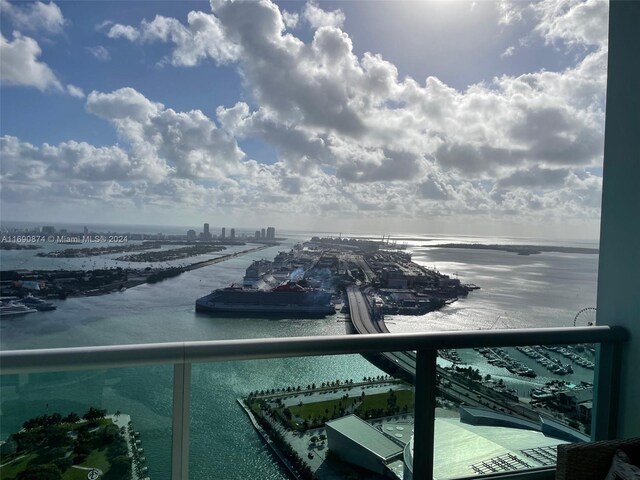
<path fill-rule="evenodd" d="M 436 415 L 436 349 L 418 350 L 413 429 L 413 478 L 433 478 L 433 446 Z"/>

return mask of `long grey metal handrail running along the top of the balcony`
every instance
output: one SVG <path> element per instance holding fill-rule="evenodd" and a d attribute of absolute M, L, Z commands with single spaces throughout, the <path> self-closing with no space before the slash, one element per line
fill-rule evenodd
<path fill-rule="evenodd" d="M 445 348 L 612 343 L 627 339 L 628 332 L 621 327 L 592 326 L 8 350 L 0 352 L 0 374 Z"/>

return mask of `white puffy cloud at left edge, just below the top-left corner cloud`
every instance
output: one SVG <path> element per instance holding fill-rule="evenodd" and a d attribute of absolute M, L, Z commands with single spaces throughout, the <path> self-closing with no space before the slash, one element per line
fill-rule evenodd
<path fill-rule="evenodd" d="M 0 79 L 5 85 L 35 87 L 40 91 L 63 87 L 56 75 L 38 60 L 42 50 L 34 39 L 13 33 L 13 42 L 0 34 Z"/>

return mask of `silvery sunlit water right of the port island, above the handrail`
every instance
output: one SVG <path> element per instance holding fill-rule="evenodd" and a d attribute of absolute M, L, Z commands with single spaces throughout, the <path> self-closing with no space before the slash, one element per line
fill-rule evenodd
<path fill-rule="evenodd" d="M 598 255 L 416 247 L 413 260 L 480 290 L 422 317 L 390 319 L 392 331 L 569 327 L 596 306 Z M 589 315 L 581 315 L 585 324 Z"/>

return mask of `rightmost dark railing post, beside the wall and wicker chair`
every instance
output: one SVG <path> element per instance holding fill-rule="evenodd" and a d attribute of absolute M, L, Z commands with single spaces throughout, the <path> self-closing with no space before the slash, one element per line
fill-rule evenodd
<path fill-rule="evenodd" d="M 619 342 L 596 345 L 596 370 L 591 416 L 591 440 L 616 438 L 622 346 Z"/>

